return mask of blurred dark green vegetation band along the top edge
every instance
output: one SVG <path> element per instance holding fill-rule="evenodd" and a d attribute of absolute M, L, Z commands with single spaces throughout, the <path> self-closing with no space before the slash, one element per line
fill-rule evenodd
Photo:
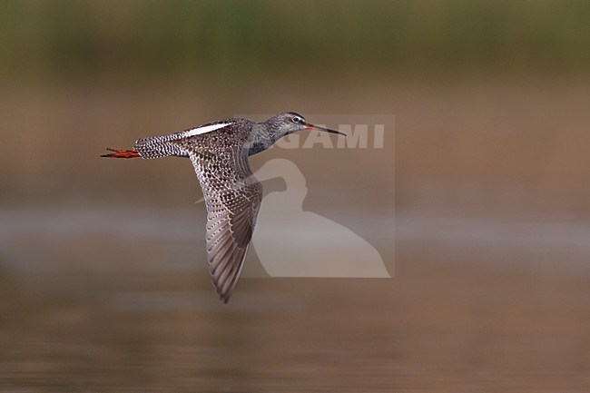
<path fill-rule="evenodd" d="M 587 75 L 586 1 L 5 1 L 3 79 Z"/>

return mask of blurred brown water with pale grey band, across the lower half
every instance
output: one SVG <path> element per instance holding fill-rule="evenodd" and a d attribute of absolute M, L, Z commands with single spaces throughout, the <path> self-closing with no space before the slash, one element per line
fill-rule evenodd
<path fill-rule="evenodd" d="M 247 279 L 222 305 L 186 210 L 0 215 L 3 391 L 590 386 L 583 221 L 399 211 L 393 279 Z"/>

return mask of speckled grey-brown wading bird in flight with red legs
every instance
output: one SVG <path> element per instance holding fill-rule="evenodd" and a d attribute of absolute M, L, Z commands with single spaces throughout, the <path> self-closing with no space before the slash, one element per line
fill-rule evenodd
<path fill-rule="evenodd" d="M 299 113 L 284 112 L 261 123 L 231 118 L 180 133 L 149 136 L 137 140 L 133 149 L 107 148 L 111 153 L 102 157 L 191 159 L 207 208 L 206 249 L 211 281 L 220 300 L 227 303 L 240 279 L 261 207 L 262 185 L 254 177 L 248 157 L 301 130 L 346 136 L 308 123 Z"/>

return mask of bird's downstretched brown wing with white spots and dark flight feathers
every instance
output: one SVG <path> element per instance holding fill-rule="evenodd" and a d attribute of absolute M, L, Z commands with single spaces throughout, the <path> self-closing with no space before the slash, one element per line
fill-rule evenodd
<path fill-rule="evenodd" d="M 189 156 L 207 206 L 207 260 L 213 286 L 227 303 L 250 246 L 262 185 L 252 173 L 244 148 L 199 150 Z"/>

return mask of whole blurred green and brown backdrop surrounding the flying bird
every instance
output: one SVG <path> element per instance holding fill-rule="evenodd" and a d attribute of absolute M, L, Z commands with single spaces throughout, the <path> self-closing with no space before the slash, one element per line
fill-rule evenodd
<path fill-rule="evenodd" d="M 590 3 L 5 1 L 0 26 L 0 390 L 590 388 Z M 384 149 L 251 163 L 295 162 L 396 277 L 223 306 L 189 162 L 99 155 L 285 110 L 395 115 Z"/>

